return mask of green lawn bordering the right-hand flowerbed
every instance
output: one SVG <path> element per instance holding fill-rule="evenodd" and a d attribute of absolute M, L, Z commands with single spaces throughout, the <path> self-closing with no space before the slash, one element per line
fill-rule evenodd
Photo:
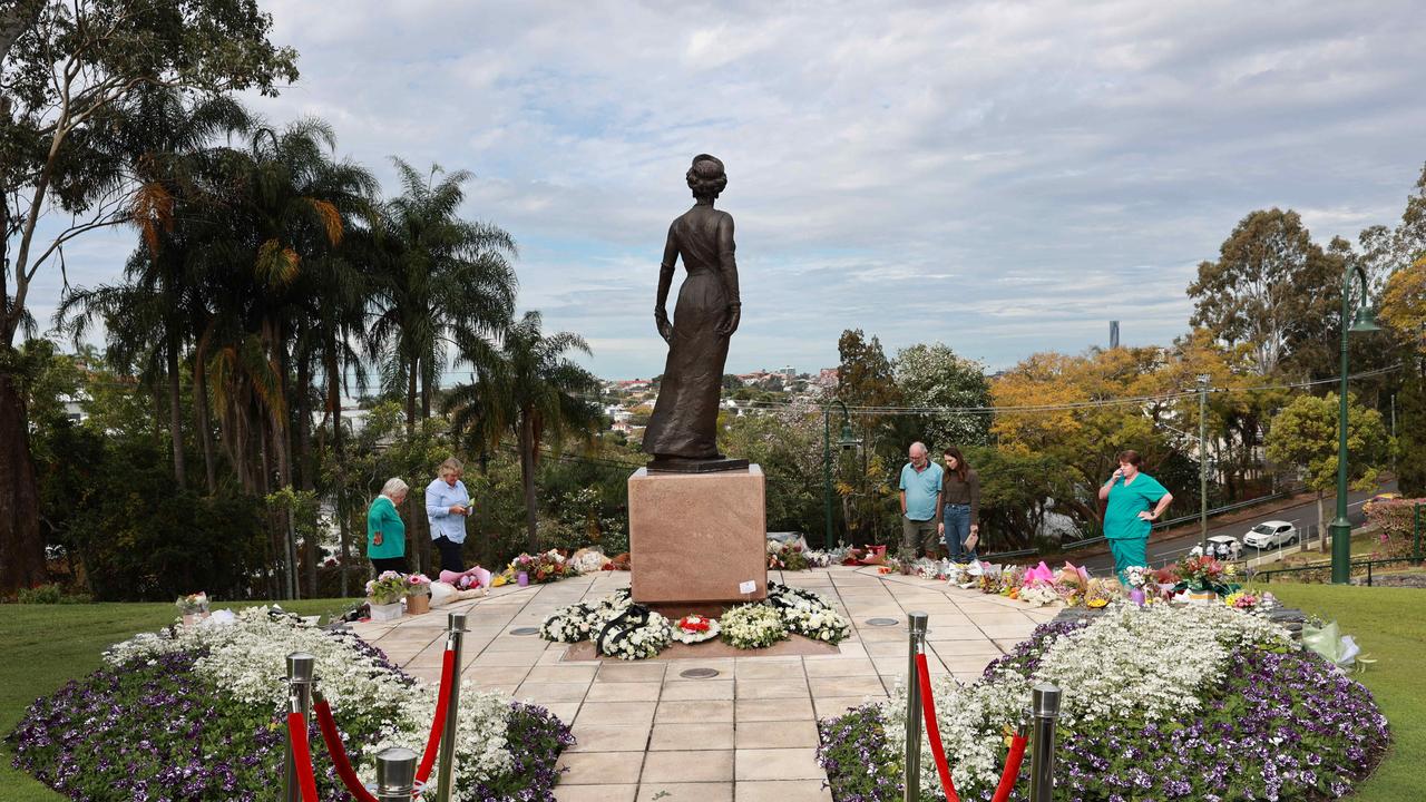
<path fill-rule="evenodd" d="M 1392 752 L 1359 795 L 1363 802 L 1422 799 L 1426 793 L 1426 591 L 1342 585 L 1268 587 L 1283 604 L 1325 619 L 1356 638 L 1376 659 L 1356 675 L 1392 722 Z"/>

